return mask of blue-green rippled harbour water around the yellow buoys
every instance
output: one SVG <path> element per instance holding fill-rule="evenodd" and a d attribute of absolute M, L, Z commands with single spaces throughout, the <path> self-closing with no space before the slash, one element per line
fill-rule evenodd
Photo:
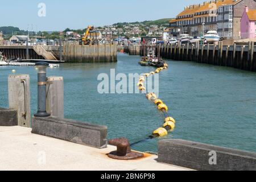
<path fill-rule="evenodd" d="M 64 77 L 65 117 L 108 126 L 108 138 L 126 137 L 131 143 L 163 125 L 160 113 L 144 94 L 99 94 L 100 73 L 146 73 L 139 56 L 118 55 L 117 63 L 61 64 L 48 76 Z M 184 61 L 168 61 L 160 73 L 159 94 L 176 119 L 167 138 L 192 140 L 256 152 L 256 73 Z M 8 107 L 7 77 L 29 74 L 31 113 L 36 112 L 37 77 L 34 67 L 0 67 L 0 106 Z M 133 147 L 157 151 L 158 139 Z"/>

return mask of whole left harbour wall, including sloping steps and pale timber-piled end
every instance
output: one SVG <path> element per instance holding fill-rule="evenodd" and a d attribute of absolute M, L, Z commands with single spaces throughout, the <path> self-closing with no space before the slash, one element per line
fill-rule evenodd
<path fill-rule="evenodd" d="M 28 51 L 28 54 L 27 54 Z M 0 46 L 7 59 L 64 60 L 68 63 L 104 63 L 117 61 L 116 44 L 81 46 L 64 42 L 63 46 Z"/>

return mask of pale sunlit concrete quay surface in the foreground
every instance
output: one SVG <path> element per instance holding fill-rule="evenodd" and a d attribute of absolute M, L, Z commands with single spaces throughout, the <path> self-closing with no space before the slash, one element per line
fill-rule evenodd
<path fill-rule="evenodd" d="M 0 126 L 0 170 L 14 171 L 188 171 L 191 169 L 156 162 L 145 154 L 138 160 L 114 160 L 106 154 L 114 146 L 97 149 L 31 133 L 30 128 Z"/>

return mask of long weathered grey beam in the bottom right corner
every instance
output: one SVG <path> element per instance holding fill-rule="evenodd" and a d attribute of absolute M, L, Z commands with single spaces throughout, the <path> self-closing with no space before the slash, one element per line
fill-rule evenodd
<path fill-rule="evenodd" d="M 256 154 L 252 152 L 176 139 L 160 140 L 158 147 L 161 163 L 201 171 L 256 170 Z"/>

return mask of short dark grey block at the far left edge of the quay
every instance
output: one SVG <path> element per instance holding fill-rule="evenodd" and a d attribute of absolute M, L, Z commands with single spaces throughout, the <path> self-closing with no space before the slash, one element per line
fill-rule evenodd
<path fill-rule="evenodd" d="M 0 107 L 0 126 L 18 126 L 18 111 Z"/>

